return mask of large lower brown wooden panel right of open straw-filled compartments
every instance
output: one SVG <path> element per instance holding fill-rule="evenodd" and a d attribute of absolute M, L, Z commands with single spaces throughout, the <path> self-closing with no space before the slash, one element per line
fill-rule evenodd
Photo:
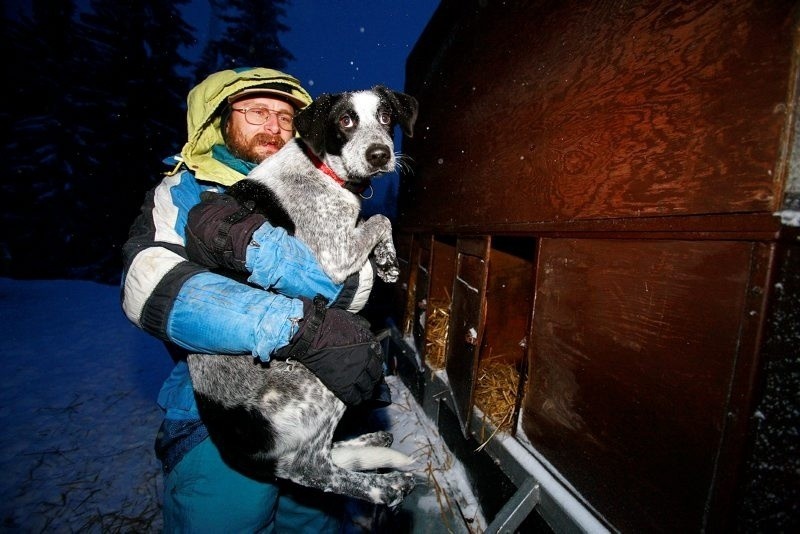
<path fill-rule="evenodd" d="M 541 241 L 523 428 L 623 531 L 703 526 L 753 250 Z"/>

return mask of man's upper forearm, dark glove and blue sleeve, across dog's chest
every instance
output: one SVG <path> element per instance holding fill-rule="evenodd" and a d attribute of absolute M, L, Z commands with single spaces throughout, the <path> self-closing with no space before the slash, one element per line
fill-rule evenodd
<path fill-rule="evenodd" d="M 247 273 L 248 282 L 264 289 L 289 297 L 323 295 L 332 306 L 353 312 L 364 307 L 373 284 L 369 264 L 334 284 L 302 241 L 226 194 L 203 193 L 191 208 L 186 251 L 202 265 Z"/>

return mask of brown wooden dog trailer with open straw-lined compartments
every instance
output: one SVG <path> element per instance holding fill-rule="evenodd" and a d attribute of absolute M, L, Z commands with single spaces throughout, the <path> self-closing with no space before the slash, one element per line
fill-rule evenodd
<path fill-rule="evenodd" d="M 797 526 L 799 33 L 782 0 L 441 2 L 395 356 L 490 530 Z"/>

